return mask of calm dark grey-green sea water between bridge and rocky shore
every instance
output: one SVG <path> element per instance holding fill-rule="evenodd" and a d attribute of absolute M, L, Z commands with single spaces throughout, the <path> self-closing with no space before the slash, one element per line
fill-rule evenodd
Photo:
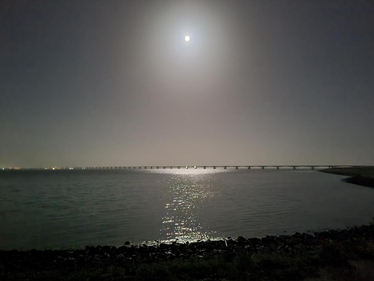
<path fill-rule="evenodd" d="M 374 190 L 312 170 L 0 172 L 0 249 L 260 237 L 367 224 Z"/>

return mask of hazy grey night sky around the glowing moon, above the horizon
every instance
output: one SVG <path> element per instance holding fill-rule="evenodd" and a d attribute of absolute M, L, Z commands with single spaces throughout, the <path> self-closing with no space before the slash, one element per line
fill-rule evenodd
<path fill-rule="evenodd" d="M 0 167 L 374 165 L 373 15 L 370 0 L 2 0 Z"/>

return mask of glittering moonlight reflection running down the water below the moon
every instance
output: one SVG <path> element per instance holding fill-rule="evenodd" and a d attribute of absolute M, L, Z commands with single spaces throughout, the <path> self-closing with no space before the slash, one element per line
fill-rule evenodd
<path fill-rule="evenodd" d="M 166 241 L 178 239 L 183 242 L 217 238 L 219 233 L 210 229 L 207 223 L 202 224 L 199 215 L 209 199 L 221 194 L 220 186 L 211 184 L 212 176 L 230 171 L 174 169 L 157 172 L 173 175 L 166 184 L 168 203 L 160 236 L 166 237 Z"/>

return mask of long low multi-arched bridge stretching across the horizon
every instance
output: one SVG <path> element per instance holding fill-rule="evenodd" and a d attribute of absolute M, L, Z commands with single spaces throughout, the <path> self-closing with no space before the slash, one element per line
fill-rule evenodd
<path fill-rule="evenodd" d="M 271 165 L 271 166 L 102 166 L 102 167 L 74 167 L 74 169 L 82 169 L 82 170 L 101 170 L 101 169 L 227 169 L 227 168 L 247 168 L 248 170 L 252 168 L 261 168 L 264 170 L 265 168 L 276 168 L 279 170 L 281 167 L 289 167 L 293 170 L 300 167 L 309 167 L 312 170 L 315 168 L 334 168 L 334 167 L 372 167 L 372 166 L 357 166 L 357 165 Z"/>

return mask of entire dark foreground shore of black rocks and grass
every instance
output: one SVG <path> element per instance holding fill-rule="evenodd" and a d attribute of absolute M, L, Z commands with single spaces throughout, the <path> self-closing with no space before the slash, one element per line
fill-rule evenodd
<path fill-rule="evenodd" d="M 374 280 L 373 239 L 370 225 L 262 239 L 1 251 L 0 280 Z"/>

